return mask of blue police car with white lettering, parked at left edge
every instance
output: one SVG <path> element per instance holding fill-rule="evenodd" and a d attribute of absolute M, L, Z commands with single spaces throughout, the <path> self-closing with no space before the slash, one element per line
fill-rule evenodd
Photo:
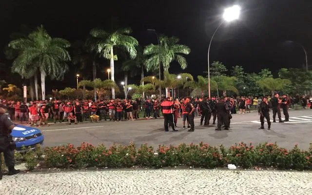
<path fill-rule="evenodd" d="M 23 146 L 26 149 L 30 146 L 33 150 L 37 144 L 42 144 L 44 140 L 39 129 L 18 124 L 12 129 L 11 136 L 16 143 L 17 151 L 21 151 Z"/>

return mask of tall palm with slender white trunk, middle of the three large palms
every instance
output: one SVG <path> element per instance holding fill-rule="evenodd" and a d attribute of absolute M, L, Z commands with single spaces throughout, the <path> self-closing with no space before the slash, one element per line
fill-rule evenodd
<path fill-rule="evenodd" d="M 131 32 L 131 28 L 122 28 L 111 33 L 98 28 L 90 31 L 93 37 L 98 38 L 94 49 L 105 59 L 110 59 L 111 80 L 113 81 L 115 81 L 114 60 L 117 60 L 117 55 L 114 55 L 114 47 L 125 49 L 131 59 L 135 59 L 137 56 L 136 46 L 138 42 L 137 39 L 129 35 Z M 112 97 L 115 98 L 115 88 L 112 88 Z"/>

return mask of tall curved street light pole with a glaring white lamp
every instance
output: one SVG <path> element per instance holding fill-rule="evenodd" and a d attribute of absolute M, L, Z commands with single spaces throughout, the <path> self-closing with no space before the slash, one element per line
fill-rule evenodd
<path fill-rule="evenodd" d="M 225 21 L 230 22 L 230 21 L 233 21 L 233 20 L 237 20 L 239 18 L 239 14 L 240 14 L 240 7 L 238 5 L 234 5 L 232 7 L 224 9 L 223 21 L 215 29 L 215 32 L 214 32 L 213 36 L 210 39 L 209 47 L 208 47 L 208 96 L 209 96 L 209 98 L 211 98 L 211 95 L 210 95 L 210 59 L 209 59 L 211 43 L 212 43 L 212 41 L 214 39 L 216 31 L 220 28 L 220 26 Z"/>

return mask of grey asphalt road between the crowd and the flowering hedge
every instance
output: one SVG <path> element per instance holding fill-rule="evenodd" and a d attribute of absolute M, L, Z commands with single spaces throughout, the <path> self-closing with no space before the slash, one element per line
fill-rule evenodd
<path fill-rule="evenodd" d="M 178 132 L 165 133 L 163 119 L 99 123 L 88 121 L 78 125 L 53 124 L 40 129 L 45 136 L 43 146 L 67 143 L 79 145 L 82 142 L 109 146 L 113 143 L 128 144 L 131 141 L 137 146 L 146 142 L 154 147 L 158 144 L 199 143 L 200 141 L 211 145 L 231 146 L 239 141 L 254 144 L 276 141 L 281 147 L 288 149 L 295 144 L 302 149 L 308 149 L 309 143 L 312 142 L 312 110 L 290 110 L 289 114 L 290 122 L 272 123 L 271 131 L 258 130 L 260 122 L 257 113 L 233 115 L 229 131 L 215 131 L 215 126 L 200 126 L 199 117 L 195 118 L 195 132 L 178 128 Z M 178 126 L 182 126 L 181 118 L 178 119 Z M 265 128 L 267 128 L 266 124 Z"/>

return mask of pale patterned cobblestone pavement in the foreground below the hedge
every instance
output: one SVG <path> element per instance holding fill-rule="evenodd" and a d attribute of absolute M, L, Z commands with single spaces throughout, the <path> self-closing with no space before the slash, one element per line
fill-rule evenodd
<path fill-rule="evenodd" d="M 88 171 L 4 176 L 0 195 L 311 195 L 312 173 Z"/>

